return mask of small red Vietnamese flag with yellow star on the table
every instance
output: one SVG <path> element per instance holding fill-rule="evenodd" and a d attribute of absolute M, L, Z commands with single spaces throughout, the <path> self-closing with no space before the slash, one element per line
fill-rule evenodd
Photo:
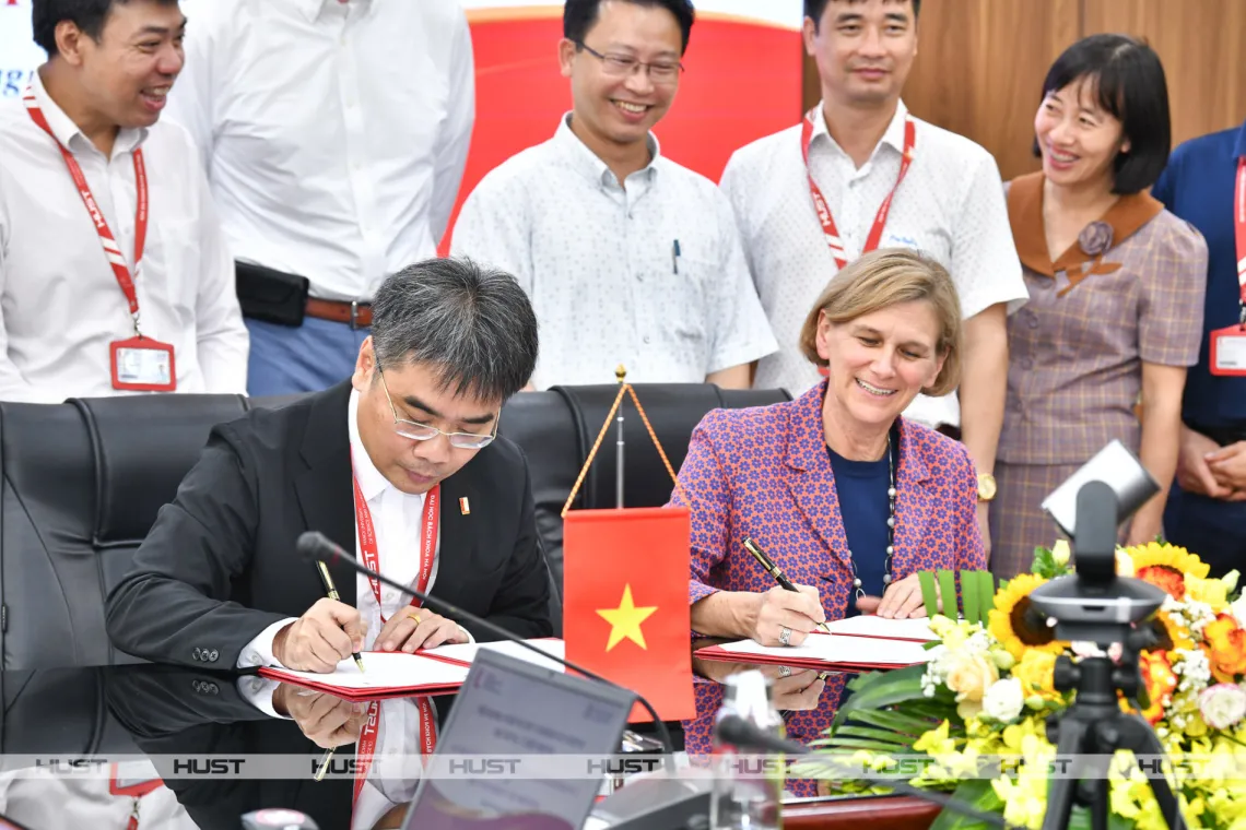
<path fill-rule="evenodd" d="M 567 660 L 643 696 L 663 720 L 697 717 L 687 508 L 573 510 L 563 520 Z M 649 720 L 635 704 L 630 720 Z"/>

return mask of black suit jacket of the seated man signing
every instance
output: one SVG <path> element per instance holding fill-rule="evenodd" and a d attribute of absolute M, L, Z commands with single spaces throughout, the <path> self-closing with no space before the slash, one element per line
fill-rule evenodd
<path fill-rule="evenodd" d="M 108 594 L 108 636 L 164 663 L 233 668 L 269 625 L 302 616 L 324 589 L 295 551 L 305 530 L 355 550 L 350 385 L 212 431 L 163 506 L 131 571 Z M 520 637 L 552 632 L 527 458 L 498 438 L 441 484 L 441 553 L 431 594 Z M 471 514 L 460 510 L 467 497 Z M 412 548 L 417 544 L 411 540 Z M 355 605 L 355 572 L 330 566 Z M 492 640 L 460 620 L 476 640 Z"/>

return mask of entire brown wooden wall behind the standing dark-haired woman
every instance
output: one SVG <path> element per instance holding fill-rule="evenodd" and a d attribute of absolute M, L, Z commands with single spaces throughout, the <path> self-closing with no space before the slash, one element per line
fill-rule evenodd
<path fill-rule="evenodd" d="M 1246 118 L 1246 0 L 923 0 L 905 102 L 991 151 L 1004 179 L 1035 170 L 1043 76 L 1065 47 L 1100 31 L 1145 37 L 1159 52 L 1174 144 Z M 819 95 L 806 58 L 805 107 Z"/>

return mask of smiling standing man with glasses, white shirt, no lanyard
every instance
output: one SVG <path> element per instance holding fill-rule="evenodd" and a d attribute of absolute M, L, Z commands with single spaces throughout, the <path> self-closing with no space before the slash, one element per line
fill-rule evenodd
<path fill-rule="evenodd" d="M 628 381 L 746 388 L 776 347 L 731 205 L 663 158 L 650 129 L 679 88 L 688 0 L 568 0 L 573 111 L 486 175 L 451 249 L 520 280 L 541 324 L 532 386 Z"/>

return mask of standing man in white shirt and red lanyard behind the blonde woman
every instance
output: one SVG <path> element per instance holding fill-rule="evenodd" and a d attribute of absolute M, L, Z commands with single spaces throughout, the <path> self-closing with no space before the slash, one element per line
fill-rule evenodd
<path fill-rule="evenodd" d="M 913 118 L 900 100 L 917 55 L 920 4 L 805 0 L 805 49 L 817 62 L 822 101 L 801 124 L 736 151 L 721 187 L 779 337 L 780 351 L 758 366 L 758 387 L 800 394 L 819 381 L 797 345 L 801 324 L 852 259 L 903 246 L 948 269 L 966 317 L 959 401 L 918 396 L 905 414 L 962 436 L 978 468 L 987 539 L 1008 375 L 1006 312 L 1028 294 L 994 159 Z"/>

